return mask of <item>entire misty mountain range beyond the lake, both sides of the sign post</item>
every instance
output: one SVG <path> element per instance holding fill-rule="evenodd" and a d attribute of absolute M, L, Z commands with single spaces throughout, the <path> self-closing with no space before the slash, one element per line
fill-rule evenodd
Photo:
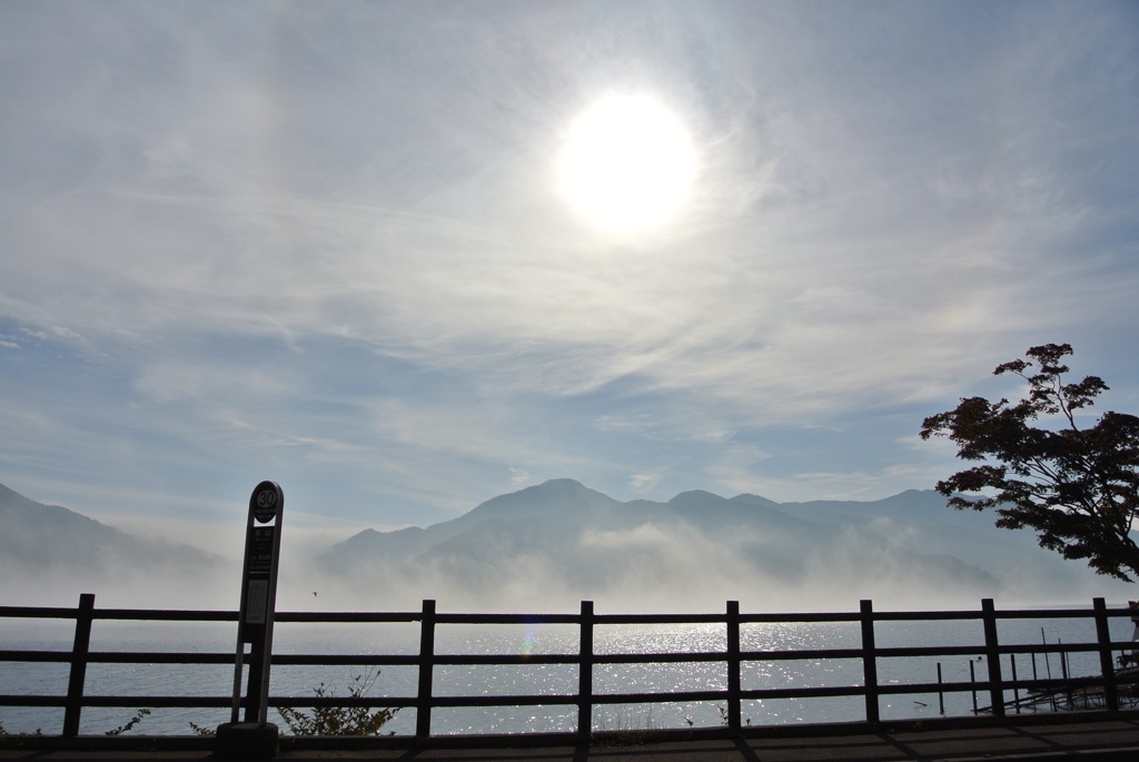
<path fill-rule="evenodd" d="M 278 608 L 392 609 L 433 598 L 451 611 L 566 611 L 591 599 L 599 609 L 667 612 L 734 599 L 752 611 L 803 611 L 861 598 L 945 608 L 975 607 L 981 597 L 1031 605 L 1126 597 L 1125 583 L 992 521 L 947 508 L 933 491 L 786 503 L 691 491 L 622 502 L 552 480 L 448 522 L 364 530 L 312 558 L 282 556 Z M 137 538 L 2 485 L 0 573 L 7 599 L 48 582 L 83 585 L 76 592 L 126 585 L 166 591 L 172 607 L 214 584 L 231 606 L 239 579 L 236 559 Z"/>

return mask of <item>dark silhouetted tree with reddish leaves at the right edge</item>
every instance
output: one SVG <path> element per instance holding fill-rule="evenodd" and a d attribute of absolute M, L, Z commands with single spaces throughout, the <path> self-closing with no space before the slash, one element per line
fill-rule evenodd
<path fill-rule="evenodd" d="M 1024 378 L 1025 399 L 962 399 L 921 424 L 923 440 L 947 436 L 958 458 L 984 461 L 937 482 L 937 491 L 953 508 L 992 508 L 997 526 L 1032 527 L 1042 548 L 1131 582 L 1139 575 L 1139 546 L 1131 536 L 1139 511 L 1139 418 L 1108 411 L 1081 429 L 1076 411 L 1093 404 L 1107 384 L 1096 376 L 1064 383 L 1068 344 L 1033 346 L 1025 354 L 1027 360 L 993 371 Z M 1059 425 L 1042 428 L 1038 419 Z"/>

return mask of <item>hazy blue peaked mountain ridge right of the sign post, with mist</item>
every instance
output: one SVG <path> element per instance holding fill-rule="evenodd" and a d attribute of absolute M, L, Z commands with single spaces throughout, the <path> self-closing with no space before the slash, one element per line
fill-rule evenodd
<path fill-rule="evenodd" d="M 632 598 L 665 609 L 728 598 L 771 607 L 883 597 L 952 605 L 1081 598 L 1111 585 L 992 521 L 954 511 L 933 491 L 777 503 L 696 490 L 621 502 L 554 480 L 442 524 L 361 532 L 318 560 L 386 599 L 443 595 L 434 590 L 490 606 L 519 597 Z"/>

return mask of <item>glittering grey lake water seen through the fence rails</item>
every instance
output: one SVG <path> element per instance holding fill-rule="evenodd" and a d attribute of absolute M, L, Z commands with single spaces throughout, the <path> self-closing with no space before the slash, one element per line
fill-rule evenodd
<path fill-rule="evenodd" d="M 1133 625 L 1128 618 L 1112 618 L 1112 638 L 1131 639 Z M 947 622 L 879 622 L 875 629 L 878 647 L 978 646 L 984 642 L 980 621 Z M 419 625 L 351 624 L 327 625 L 278 623 L 274 633 L 276 654 L 417 654 Z M 67 623 L 0 621 L 0 648 L 69 650 L 73 631 Z M 236 625 L 232 623 L 136 623 L 96 621 L 92 650 L 169 650 L 195 653 L 233 653 Z M 440 654 L 575 654 L 575 625 L 446 625 L 436 631 Z M 596 654 L 649 654 L 716 652 L 726 647 L 723 624 L 689 625 L 597 625 Z M 1000 622 L 1002 645 L 1039 645 L 1093 642 L 1095 625 L 1089 618 L 1008 620 Z M 740 630 L 743 650 L 802 650 L 820 648 L 858 648 L 861 645 L 858 623 L 789 623 L 745 624 Z M 1006 656 L 1002 673 L 1010 675 Z M 878 662 L 878 681 L 891 683 L 936 682 L 941 663 L 945 682 L 967 682 L 970 664 L 967 656 L 927 658 L 888 658 Z M 1016 657 L 1021 679 L 1060 677 L 1059 656 L 1031 655 Z M 278 666 L 272 672 L 270 695 L 311 696 L 323 683 L 334 695 L 347 695 L 353 674 L 368 669 L 367 659 L 359 667 Z M 977 680 L 986 679 L 983 662 L 975 662 Z M 1073 675 L 1099 672 L 1096 654 L 1071 654 L 1068 667 Z M 0 693 L 27 695 L 64 695 L 67 690 L 66 664 L 0 664 Z M 417 667 L 385 666 L 369 691 L 370 696 L 413 696 Z M 232 664 L 206 666 L 171 664 L 91 664 L 88 667 L 88 695 L 172 695 L 230 696 L 233 683 Z M 780 687 L 858 686 L 862 683 L 860 659 L 822 659 L 746 662 L 741 687 L 747 689 Z M 593 671 L 596 694 L 665 693 L 680 690 L 722 690 L 728 685 L 722 663 L 599 664 Z M 577 688 L 575 665 L 523 664 L 506 666 L 436 666 L 436 696 L 502 696 L 510 694 L 574 694 Z M 1011 691 L 1007 698 L 1013 698 Z M 988 693 L 977 696 L 981 706 L 989 704 Z M 968 691 L 944 695 L 947 715 L 968 715 L 973 697 Z M 146 706 L 139 702 L 138 708 Z M 714 702 L 673 702 L 597 706 L 593 728 L 628 730 L 645 728 L 713 727 L 722 723 L 726 704 Z M 133 708 L 85 708 L 82 734 L 103 734 L 126 722 Z M 926 719 L 941 714 L 937 694 L 885 696 L 882 718 Z M 861 697 L 764 699 L 744 702 L 741 715 L 751 724 L 788 724 L 810 722 L 846 722 L 865 719 Z M 214 728 L 229 720 L 229 710 L 156 708 L 133 730 L 140 734 L 188 735 L 190 722 Z M 285 723 L 270 711 L 270 720 L 282 730 Z M 436 708 L 432 714 L 432 732 L 502 734 L 502 732 L 570 732 L 576 728 L 573 705 L 523 707 Z M 0 726 L 7 732 L 58 734 L 63 727 L 63 710 L 36 707 L 0 707 Z M 407 708 L 385 726 L 398 735 L 415 732 L 415 710 Z"/>

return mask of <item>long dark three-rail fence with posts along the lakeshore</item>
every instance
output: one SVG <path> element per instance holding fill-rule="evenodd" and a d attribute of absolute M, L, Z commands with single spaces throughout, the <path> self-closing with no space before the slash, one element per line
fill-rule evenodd
<path fill-rule="evenodd" d="M 281 707 L 317 707 L 317 706 L 386 706 L 412 707 L 416 711 L 417 738 L 429 738 L 432 735 L 432 712 L 441 707 L 506 707 L 567 705 L 576 706 L 576 736 L 588 740 L 592 731 L 593 707 L 615 704 L 653 704 L 664 702 L 721 702 L 727 705 L 724 722 L 727 729 L 741 728 L 741 704 L 754 699 L 778 698 L 822 698 L 822 697 L 861 697 L 865 702 L 863 721 L 877 726 L 882 721 L 880 705 L 883 697 L 904 694 L 947 693 L 989 695 L 989 711 L 997 716 L 1003 716 L 1006 706 L 1018 706 L 1015 702 L 1007 703 L 1006 691 L 1030 691 L 1033 695 L 1047 695 L 1049 691 L 1092 691 L 1097 696 L 1097 706 L 1118 712 L 1121 695 L 1131 698 L 1133 678 L 1115 670 L 1118 653 L 1121 663 L 1131 658 L 1136 644 L 1131 641 L 1113 642 L 1111 639 L 1109 620 L 1112 617 L 1131 617 L 1133 612 L 1126 608 L 1108 608 L 1103 598 L 1092 601 L 1091 609 L 1019 609 L 997 611 L 992 599 L 981 601 L 981 611 L 934 611 L 934 612 L 876 612 L 871 601 L 863 600 L 857 613 L 801 613 L 801 614 L 741 614 L 737 601 L 728 601 L 723 614 L 596 614 L 592 601 L 582 601 L 577 614 L 444 614 L 435 608 L 434 600 L 423 601 L 419 612 L 380 613 L 380 612 L 323 612 L 323 613 L 278 613 L 276 621 L 309 623 L 419 623 L 418 655 L 367 655 L 359 654 L 273 654 L 274 666 L 287 665 L 360 665 L 367 663 L 376 666 L 403 665 L 418 669 L 418 690 L 415 696 L 378 697 L 337 697 L 311 696 L 297 698 L 290 696 L 270 696 L 271 706 Z M 1063 645 L 1001 645 L 998 641 L 998 622 L 1001 620 L 1025 618 L 1091 618 L 1096 626 L 1095 642 L 1067 642 Z M 92 652 L 91 625 L 95 620 L 117 621 L 167 621 L 167 622 L 236 622 L 236 612 L 216 611 L 149 611 L 149 609 L 96 609 L 95 596 L 84 593 L 80 597 L 76 608 L 47 608 L 0 606 L 0 618 L 34 618 L 34 620 L 74 620 L 75 637 L 72 650 L 0 650 L 0 663 L 42 662 L 69 663 L 71 672 L 67 694 L 59 695 L 0 695 L 0 706 L 25 707 L 63 707 L 64 721 L 62 736 L 79 735 L 80 718 L 85 707 L 134 707 L 140 704 L 151 707 L 229 707 L 232 696 L 170 696 L 170 695 L 130 695 L 130 696 L 90 696 L 87 695 L 85 675 L 89 664 L 232 664 L 235 654 L 226 653 L 163 653 L 163 652 Z M 882 622 L 939 622 L 950 620 L 980 620 L 983 625 L 984 642 L 970 646 L 934 646 L 934 647 L 878 647 L 875 640 L 875 624 Z M 797 650 L 743 650 L 740 648 L 740 625 L 753 623 L 858 623 L 861 632 L 861 646 L 857 648 L 821 648 Z M 595 653 L 595 628 L 598 625 L 646 625 L 646 624 L 723 624 L 727 629 L 724 650 L 696 653 L 652 653 L 652 654 L 598 654 Z M 441 624 L 563 624 L 576 625 L 580 632 L 580 647 L 575 654 L 439 654 L 435 649 L 436 629 Z M 1015 654 L 1052 654 L 1062 658 L 1073 653 L 1096 653 L 1099 656 L 1099 674 L 1095 677 L 1075 678 L 1065 674 L 1059 679 L 1019 679 L 1016 674 L 1016 662 L 1010 659 L 1011 674 L 1006 675 L 1001 656 Z M 983 656 L 986 674 L 983 679 L 969 682 L 924 683 L 888 683 L 878 681 L 878 665 L 883 659 L 936 657 L 936 656 Z M 854 686 L 825 686 L 801 688 L 741 688 L 740 675 L 743 666 L 751 662 L 776 662 L 789 659 L 859 659 L 862 664 L 862 682 Z M 716 662 L 727 665 L 727 688 L 723 690 L 685 690 L 667 693 L 623 693 L 597 694 L 593 690 L 593 667 L 599 664 L 658 664 L 658 663 L 699 663 Z M 518 664 L 563 664 L 576 665 L 579 680 L 577 690 L 565 695 L 433 695 L 433 678 L 436 666 L 443 665 L 518 665 Z M 243 705 L 245 699 L 243 699 Z M 1129 702 L 1133 705 L 1133 700 Z"/>

